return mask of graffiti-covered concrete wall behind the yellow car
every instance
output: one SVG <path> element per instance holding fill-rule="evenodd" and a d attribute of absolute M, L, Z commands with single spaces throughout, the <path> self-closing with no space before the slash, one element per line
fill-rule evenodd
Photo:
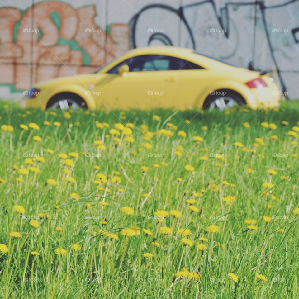
<path fill-rule="evenodd" d="M 272 70 L 299 96 L 299 0 L 0 1 L 0 97 L 92 72 L 130 48 L 177 45 Z"/>

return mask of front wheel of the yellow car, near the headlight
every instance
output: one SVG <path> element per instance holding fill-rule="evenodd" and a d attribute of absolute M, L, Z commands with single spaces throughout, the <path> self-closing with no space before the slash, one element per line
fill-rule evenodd
<path fill-rule="evenodd" d="M 78 109 L 87 108 L 85 101 L 82 97 L 74 93 L 59 93 L 52 97 L 47 104 L 47 108 L 52 109 Z"/>

